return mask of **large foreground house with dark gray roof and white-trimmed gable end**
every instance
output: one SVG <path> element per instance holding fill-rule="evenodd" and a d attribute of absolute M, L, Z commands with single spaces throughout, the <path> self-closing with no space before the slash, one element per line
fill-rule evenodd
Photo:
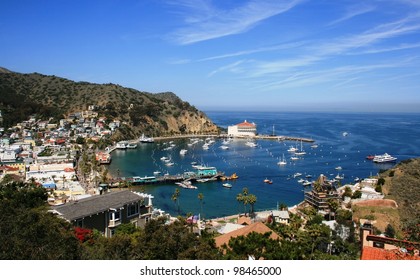
<path fill-rule="evenodd" d="M 112 237 L 121 224 L 144 226 L 152 216 L 152 198 L 129 190 L 115 191 L 54 206 L 51 212 L 73 226 L 97 229 Z"/>

